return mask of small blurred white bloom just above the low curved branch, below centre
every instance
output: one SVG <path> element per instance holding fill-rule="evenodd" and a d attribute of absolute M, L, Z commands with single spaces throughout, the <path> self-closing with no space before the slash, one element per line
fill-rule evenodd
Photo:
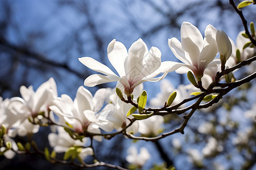
<path fill-rule="evenodd" d="M 139 121 L 139 133 L 143 135 L 154 136 L 159 134 L 163 124 L 163 116 L 155 115 L 150 118 Z"/>

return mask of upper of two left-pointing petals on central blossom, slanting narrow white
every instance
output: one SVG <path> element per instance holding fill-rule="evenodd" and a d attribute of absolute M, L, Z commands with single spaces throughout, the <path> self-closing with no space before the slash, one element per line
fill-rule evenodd
<path fill-rule="evenodd" d="M 91 57 L 81 57 L 79 58 L 79 61 L 88 67 L 89 69 L 92 69 L 94 71 L 97 71 L 99 73 L 105 74 L 105 75 L 115 75 L 112 70 L 109 69 L 109 67 L 105 66 L 104 64 L 96 61 L 95 59 Z"/>

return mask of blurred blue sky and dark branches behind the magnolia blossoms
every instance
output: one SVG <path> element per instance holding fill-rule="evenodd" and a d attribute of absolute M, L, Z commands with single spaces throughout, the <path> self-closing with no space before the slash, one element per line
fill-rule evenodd
<path fill-rule="evenodd" d="M 239 2 L 235 1 L 236 4 Z M 255 6 L 246 7 L 243 12 L 249 23 L 256 23 Z M 67 94 L 74 99 L 77 88 L 83 86 L 84 79 L 95 73 L 82 65 L 78 58 L 93 57 L 113 69 L 106 54 L 107 46 L 113 39 L 121 41 L 129 49 L 134 41 L 142 38 L 148 49 L 156 46 L 161 50 L 162 61 L 177 61 L 167 42 L 171 37 L 180 40 L 180 25 L 184 21 L 196 25 L 203 35 L 205 27 L 212 24 L 215 28 L 224 30 L 235 42 L 238 33 L 243 30 L 241 19 L 229 5 L 228 0 L 2 0 L 0 1 L 0 96 L 3 99 L 20 96 L 20 86 L 32 85 L 36 90 L 40 84 L 53 77 L 57 84 L 58 95 Z M 179 84 L 188 84 L 185 75 L 170 73 L 166 79 L 175 87 Z M 98 88 L 114 88 L 114 86 L 115 83 L 107 83 L 88 87 L 88 90 L 94 94 Z M 160 92 L 159 86 L 160 82 L 144 83 L 150 98 Z M 256 168 L 255 134 L 250 133 L 248 137 L 246 136 L 245 143 L 239 147 L 233 142 L 240 134 L 241 138 L 245 138 L 248 127 L 255 131 L 253 118 L 247 120 L 244 116 L 246 111 L 256 112 L 252 109 L 255 103 L 255 91 L 255 80 L 253 80 L 248 87 L 239 91 L 240 94 L 234 92 L 237 94 L 235 97 L 226 96 L 219 107 L 195 114 L 189 121 L 185 135 L 176 134 L 174 137 L 161 140 L 164 150 L 175 167 L 177 169 L 241 169 L 243 166 L 246 169 Z M 210 122 L 217 132 L 199 133 L 199 125 L 204 122 Z M 175 123 L 169 123 L 166 127 L 175 127 Z M 45 141 L 41 142 L 47 143 L 47 131 L 44 130 L 45 133 L 42 135 L 45 136 Z M 193 162 L 195 155 L 191 156 L 188 150 L 189 148 L 202 150 L 207 145 L 209 137 L 214 137 L 222 146 L 222 150 L 205 158 L 203 165 L 196 165 Z M 176 150 L 174 138 L 181 142 L 181 149 Z M 98 143 L 96 147 L 98 158 L 104 162 L 127 167 L 125 160 L 127 142 L 121 141 L 126 139 L 118 135 L 113 140 Z M 152 143 L 140 141 L 136 145 L 138 148 L 148 146 L 151 159 L 145 169 L 150 169 L 153 164 L 163 163 Z M 62 169 L 67 165 L 53 165 L 44 161 L 43 156 L 35 155 L 16 155 L 12 160 L 0 157 L 0 169 L 14 167 Z M 77 169 L 72 166 L 68 168 Z"/>

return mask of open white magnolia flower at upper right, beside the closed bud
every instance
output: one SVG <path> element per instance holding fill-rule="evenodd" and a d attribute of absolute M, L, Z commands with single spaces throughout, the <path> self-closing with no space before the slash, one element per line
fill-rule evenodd
<path fill-rule="evenodd" d="M 216 65 L 216 62 L 212 62 L 218 53 L 216 31 L 216 28 L 208 25 L 203 39 L 199 29 L 189 22 L 183 22 L 180 28 L 181 42 L 175 37 L 168 40 L 175 57 L 183 63 L 167 61 L 170 65 L 169 71 L 177 69 L 177 73 L 187 73 L 190 69 L 200 79 L 207 67 Z"/>

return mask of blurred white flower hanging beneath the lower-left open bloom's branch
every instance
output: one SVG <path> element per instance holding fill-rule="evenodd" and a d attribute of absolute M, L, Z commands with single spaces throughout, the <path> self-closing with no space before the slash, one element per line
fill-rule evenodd
<path fill-rule="evenodd" d="M 48 134 L 49 145 L 53 147 L 57 153 L 65 152 L 72 146 L 84 146 L 87 142 L 87 138 L 75 140 L 64 130 L 64 128 L 58 126 L 57 133 Z M 79 153 L 81 159 L 84 159 L 86 155 L 93 155 L 93 150 L 90 147 L 83 148 Z"/>

